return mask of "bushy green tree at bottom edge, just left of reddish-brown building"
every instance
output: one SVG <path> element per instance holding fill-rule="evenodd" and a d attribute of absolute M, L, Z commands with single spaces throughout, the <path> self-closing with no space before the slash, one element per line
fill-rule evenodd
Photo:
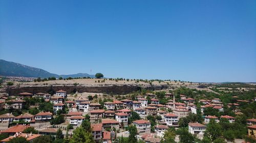
<path fill-rule="evenodd" d="M 92 133 L 84 130 L 82 127 L 78 127 L 73 131 L 73 136 L 70 139 L 70 143 L 94 143 Z"/>

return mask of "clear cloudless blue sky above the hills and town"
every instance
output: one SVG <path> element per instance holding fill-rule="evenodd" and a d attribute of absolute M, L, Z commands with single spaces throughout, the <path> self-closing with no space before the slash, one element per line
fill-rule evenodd
<path fill-rule="evenodd" d="M 0 59 L 56 74 L 256 81 L 256 1 L 0 0 Z"/>

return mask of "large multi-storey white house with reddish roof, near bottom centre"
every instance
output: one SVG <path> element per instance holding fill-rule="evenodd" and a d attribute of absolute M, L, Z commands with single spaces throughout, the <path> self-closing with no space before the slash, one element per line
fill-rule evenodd
<path fill-rule="evenodd" d="M 147 120 L 136 120 L 133 121 L 133 125 L 136 126 L 139 134 L 150 133 L 151 123 Z"/>

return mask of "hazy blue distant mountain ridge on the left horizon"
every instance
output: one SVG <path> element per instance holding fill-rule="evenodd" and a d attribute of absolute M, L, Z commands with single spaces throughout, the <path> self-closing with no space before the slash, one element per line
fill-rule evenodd
<path fill-rule="evenodd" d="M 19 63 L 9 62 L 5 60 L 0 60 L 0 75 L 1 76 L 17 76 L 17 77 L 41 77 L 41 78 L 48 78 L 48 77 L 95 77 L 94 75 L 90 75 L 87 73 L 77 73 L 77 74 L 70 74 L 70 75 L 58 75 L 54 73 L 50 73 L 46 70 L 42 70 L 39 68 L 34 68 L 30 66 L 26 66 Z"/>

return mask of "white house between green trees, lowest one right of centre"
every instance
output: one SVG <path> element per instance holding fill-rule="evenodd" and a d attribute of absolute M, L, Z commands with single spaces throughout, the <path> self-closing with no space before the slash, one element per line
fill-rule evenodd
<path fill-rule="evenodd" d="M 197 135 L 199 139 L 202 139 L 206 126 L 200 123 L 188 123 L 188 132 L 194 135 Z"/>

